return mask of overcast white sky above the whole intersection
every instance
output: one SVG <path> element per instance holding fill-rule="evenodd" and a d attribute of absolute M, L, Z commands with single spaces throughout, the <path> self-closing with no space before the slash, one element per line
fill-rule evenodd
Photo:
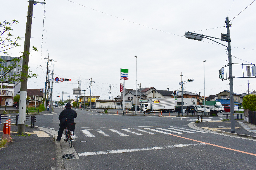
<path fill-rule="evenodd" d="M 206 96 L 229 90 L 228 80 L 218 78 L 218 70 L 227 65 L 226 47 L 208 39 L 195 41 L 182 37 L 185 31 L 196 31 L 220 38 L 227 33 L 225 18 L 232 20 L 253 0 L 41 0 L 34 5 L 31 46 L 38 48 L 29 58 L 29 66 L 38 78 L 28 80 L 28 88 L 44 88 L 47 58 L 56 60 L 54 78 L 71 78 L 71 82 L 54 83 L 54 100 L 72 96 L 78 87 L 90 95 L 111 99 L 120 95 L 120 68 L 129 69 L 125 88 L 135 89 L 137 83 L 158 90 L 180 90 L 181 73 L 185 90 L 204 95 L 204 65 Z M 12 34 L 24 37 L 27 0 L 1 1 L 1 20 L 17 19 Z M 256 2 L 232 20 L 230 37 L 233 63 L 256 63 Z M 45 11 L 45 13 L 44 13 Z M 44 15 L 45 14 L 45 15 Z M 43 27 L 44 21 L 44 27 Z M 215 28 L 215 29 L 212 29 Z M 43 31 L 44 30 L 44 31 Z M 202 30 L 202 31 L 201 31 Z M 43 38 L 42 38 L 43 35 Z M 42 43 L 43 42 L 43 43 Z M 9 51 L 19 56 L 24 48 Z M 221 41 L 227 45 L 227 42 Z M 42 68 L 41 68 L 42 67 Z M 52 67 L 50 67 L 52 71 Z M 228 69 L 227 69 L 228 70 Z M 233 66 L 233 76 L 242 76 L 242 65 Z M 246 70 L 244 66 L 244 74 Z M 234 78 L 234 92 L 256 90 L 255 78 Z"/>

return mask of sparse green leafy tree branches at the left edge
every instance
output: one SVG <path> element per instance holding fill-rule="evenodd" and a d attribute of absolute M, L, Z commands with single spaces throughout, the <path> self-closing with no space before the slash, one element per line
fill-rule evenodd
<path fill-rule="evenodd" d="M 21 56 L 12 58 L 10 60 L 4 60 L 2 57 L 3 55 L 9 55 L 8 50 L 21 46 L 17 41 L 21 40 L 19 36 L 16 38 L 12 38 L 13 35 L 10 34 L 12 31 L 12 25 L 19 23 L 17 20 L 12 20 L 12 22 L 7 22 L 4 20 L 0 22 L 0 82 L 2 83 L 13 83 L 13 82 L 21 82 L 21 76 L 25 76 L 26 78 L 36 77 L 35 73 L 29 71 L 29 67 L 22 68 L 28 70 L 27 75 L 23 75 L 20 71 L 15 71 L 16 67 L 20 67 L 19 62 L 22 58 L 24 58 L 25 54 L 21 52 Z M 31 51 L 38 51 L 34 46 L 32 47 Z M 30 51 L 30 52 L 31 52 Z M 29 53 L 26 53 L 29 54 Z M 9 73 L 12 73 L 11 75 Z"/>

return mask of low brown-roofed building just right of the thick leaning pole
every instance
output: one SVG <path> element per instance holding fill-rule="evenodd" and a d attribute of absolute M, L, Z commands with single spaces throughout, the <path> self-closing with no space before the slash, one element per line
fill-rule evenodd
<path fill-rule="evenodd" d="M 27 105 L 38 107 L 43 104 L 45 93 L 40 92 L 40 89 L 27 89 L 27 97 L 29 97 Z"/>

